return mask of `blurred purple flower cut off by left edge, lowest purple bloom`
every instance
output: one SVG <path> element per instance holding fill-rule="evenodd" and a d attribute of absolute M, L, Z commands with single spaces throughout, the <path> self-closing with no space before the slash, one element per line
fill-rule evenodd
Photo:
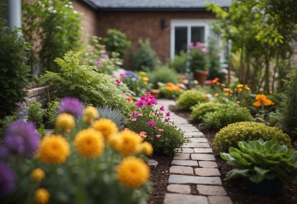
<path fill-rule="evenodd" d="M 13 191 L 15 174 L 14 172 L 3 162 L 0 163 L 0 198 Z"/>

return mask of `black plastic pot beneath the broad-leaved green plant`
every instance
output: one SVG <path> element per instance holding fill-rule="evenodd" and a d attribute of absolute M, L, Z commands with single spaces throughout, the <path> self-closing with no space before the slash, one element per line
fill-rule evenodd
<path fill-rule="evenodd" d="M 279 179 L 263 180 L 260 183 L 253 183 L 249 178 L 244 178 L 247 191 L 260 197 L 278 197 L 282 195 L 285 183 Z"/>

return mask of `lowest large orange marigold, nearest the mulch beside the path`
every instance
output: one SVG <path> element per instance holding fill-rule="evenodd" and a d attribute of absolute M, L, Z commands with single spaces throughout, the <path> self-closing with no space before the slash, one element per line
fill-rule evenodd
<path fill-rule="evenodd" d="M 125 186 L 135 188 L 149 179 L 150 168 L 142 159 L 128 156 L 116 167 L 116 172 Z"/>

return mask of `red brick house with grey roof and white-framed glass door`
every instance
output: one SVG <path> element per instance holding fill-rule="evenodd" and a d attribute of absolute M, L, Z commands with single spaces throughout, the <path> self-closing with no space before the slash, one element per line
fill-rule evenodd
<path fill-rule="evenodd" d="M 189 45 L 214 36 L 214 14 L 206 11 L 202 0 L 73 0 L 73 7 L 83 12 L 84 30 L 104 37 L 109 28 L 127 34 L 134 51 L 138 40 L 149 38 L 162 62 Z M 227 8 L 231 0 L 211 0 Z M 215 36 L 217 37 L 217 36 Z M 217 37 L 218 43 L 220 39 Z"/>

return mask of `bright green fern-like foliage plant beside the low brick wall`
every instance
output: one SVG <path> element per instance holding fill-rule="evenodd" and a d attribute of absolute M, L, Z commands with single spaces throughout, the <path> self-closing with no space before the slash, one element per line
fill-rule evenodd
<path fill-rule="evenodd" d="M 100 84 L 107 84 L 108 77 L 98 73 L 96 66 L 79 65 L 77 57 L 81 52 L 75 54 L 70 50 L 63 59 L 56 58 L 54 61 L 60 67 L 61 73 L 46 71 L 38 79 L 40 85 L 50 82 L 57 92 L 58 98 L 64 96 L 77 97 L 82 101 L 97 104 L 97 101 L 108 101 L 109 92 L 102 92 Z"/>

